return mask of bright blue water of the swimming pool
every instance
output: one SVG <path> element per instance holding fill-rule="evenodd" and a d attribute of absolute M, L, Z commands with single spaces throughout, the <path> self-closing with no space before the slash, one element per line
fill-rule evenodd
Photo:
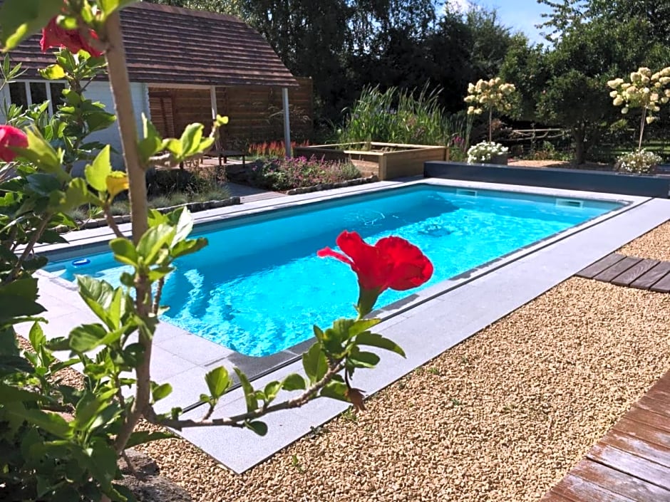
<path fill-rule="evenodd" d="M 355 315 L 356 276 L 316 256 L 344 229 L 370 244 L 398 235 L 419 246 L 435 266 L 426 288 L 619 206 L 418 184 L 234 219 L 195 232 L 210 244 L 177 261 L 163 288 L 163 320 L 245 355 L 271 355 L 310 338 L 313 324 Z M 125 267 L 110 253 L 79 258 L 90 263 L 69 258 L 46 269 L 118 285 Z M 386 291 L 376 307 L 416 291 Z"/>

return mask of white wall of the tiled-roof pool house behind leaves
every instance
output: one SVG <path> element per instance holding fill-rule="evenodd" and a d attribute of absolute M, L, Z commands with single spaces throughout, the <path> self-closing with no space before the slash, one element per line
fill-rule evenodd
<path fill-rule="evenodd" d="M 110 113 L 114 112 L 114 103 L 112 94 L 109 88 L 109 83 L 91 82 L 86 88 L 86 98 L 99 101 L 105 105 L 105 110 Z M 138 135 L 142 135 L 142 113 L 147 117 L 149 115 L 149 88 L 143 83 L 130 83 L 130 95 L 133 99 L 133 108 L 135 110 L 136 123 L 138 127 Z M 112 164 L 116 169 L 123 169 L 123 158 L 121 157 L 121 140 L 118 134 L 118 125 L 116 122 L 108 129 L 103 131 L 93 132 L 88 140 L 99 141 L 103 145 L 111 145 L 112 147 Z"/>

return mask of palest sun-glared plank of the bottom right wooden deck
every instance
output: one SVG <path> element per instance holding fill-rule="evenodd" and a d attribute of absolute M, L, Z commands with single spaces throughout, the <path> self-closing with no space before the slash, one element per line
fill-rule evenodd
<path fill-rule="evenodd" d="M 597 443 L 587 453 L 587 459 L 617 469 L 617 471 L 629 474 L 659 488 L 666 489 L 670 484 L 670 469 L 666 466 L 643 459 L 628 451 L 614 448 L 609 444 Z M 670 496 L 670 491 L 668 491 L 668 496 Z"/>

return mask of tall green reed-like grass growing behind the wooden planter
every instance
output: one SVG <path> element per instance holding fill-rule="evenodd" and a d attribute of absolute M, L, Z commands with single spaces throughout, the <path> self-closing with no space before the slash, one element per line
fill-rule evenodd
<path fill-rule="evenodd" d="M 368 86 L 346 110 L 338 142 L 391 142 L 450 146 L 457 137 L 467 142 L 465 115 L 447 115 L 440 106 L 440 89 L 421 91 Z"/>

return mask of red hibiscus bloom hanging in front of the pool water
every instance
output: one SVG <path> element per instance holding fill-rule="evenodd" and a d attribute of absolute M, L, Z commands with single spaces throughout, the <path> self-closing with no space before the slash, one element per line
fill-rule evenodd
<path fill-rule="evenodd" d="M 416 288 L 433 275 L 433 263 L 421 249 L 401 237 L 383 237 L 371 246 L 356 232 L 345 230 L 339 234 L 336 243 L 344 254 L 330 248 L 321 249 L 316 254 L 321 258 L 332 256 L 351 266 L 359 278 L 361 315 L 372 310 L 374 302 L 386 289 L 405 291 Z"/>

